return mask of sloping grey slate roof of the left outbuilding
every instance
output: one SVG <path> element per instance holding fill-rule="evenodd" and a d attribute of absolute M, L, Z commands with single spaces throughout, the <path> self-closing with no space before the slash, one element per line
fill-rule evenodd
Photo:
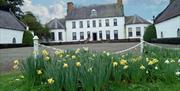
<path fill-rule="evenodd" d="M 12 13 L 0 10 L 0 28 L 25 31 L 26 26 Z"/>

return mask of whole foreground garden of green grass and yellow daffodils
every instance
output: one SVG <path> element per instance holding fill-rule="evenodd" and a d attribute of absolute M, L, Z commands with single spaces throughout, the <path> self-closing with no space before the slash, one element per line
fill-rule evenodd
<path fill-rule="evenodd" d="M 121 54 L 88 48 L 42 50 L 15 60 L 0 91 L 178 91 L 180 51 L 144 46 Z M 35 52 L 34 52 L 35 53 Z"/>

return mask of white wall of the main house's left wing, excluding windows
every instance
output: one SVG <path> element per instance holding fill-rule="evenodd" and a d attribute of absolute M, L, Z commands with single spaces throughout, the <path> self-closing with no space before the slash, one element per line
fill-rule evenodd
<path fill-rule="evenodd" d="M 50 42 L 65 42 L 66 41 L 66 37 L 65 37 L 66 33 L 64 29 L 53 29 L 53 30 L 50 30 L 50 33 L 51 32 L 54 32 L 55 41 L 50 40 Z M 59 40 L 59 32 L 62 32 L 62 40 Z"/>

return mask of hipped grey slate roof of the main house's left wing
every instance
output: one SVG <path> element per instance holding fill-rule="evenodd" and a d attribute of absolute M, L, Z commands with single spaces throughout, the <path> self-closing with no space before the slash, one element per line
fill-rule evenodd
<path fill-rule="evenodd" d="M 65 19 L 55 18 L 48 22 L 46 25 L 49 29 L 65 29 Z"/>

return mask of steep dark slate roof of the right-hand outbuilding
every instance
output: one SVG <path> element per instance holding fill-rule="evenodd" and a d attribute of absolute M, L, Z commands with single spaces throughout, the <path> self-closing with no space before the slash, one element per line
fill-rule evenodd
<path fill-rule="evenodd" d="M 180 0 L 174 0 L 156 18 L 155 23 L 160 23 L 176 16 L 180 16 Z"/>

